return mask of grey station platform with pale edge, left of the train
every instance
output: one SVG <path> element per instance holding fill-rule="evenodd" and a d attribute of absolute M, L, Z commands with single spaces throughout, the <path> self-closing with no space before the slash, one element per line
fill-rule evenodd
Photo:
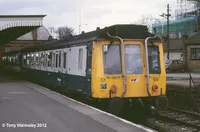
<path fill-rule="evenodd" d="M 1 132 L 153 132 L 37 84 L 0 74 Z"/>

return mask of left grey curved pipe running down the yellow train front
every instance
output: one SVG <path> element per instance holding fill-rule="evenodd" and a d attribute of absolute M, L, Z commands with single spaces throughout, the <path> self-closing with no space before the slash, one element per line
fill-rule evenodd
<path fill-rule="evenodd" d="M 122 40 L 122 38 L 120 38 L 119 36 L 111 36 L 109 32 L 106 33 L 108 35 L 108 37 L 110 38 L 114 38 L 114 39 L 119 39 L 120 40 L 120 45 L 121 45 L 121 61 L 122 61 L 122 73 L 123 73 L 123 77 L 124 77 L 124 91 L 122 93 L 122 98 L 124 97 L 124 95 L 126 94 L 126 67 L 125 67 L 125 60 L 124 60 L 124 41 Z"/>

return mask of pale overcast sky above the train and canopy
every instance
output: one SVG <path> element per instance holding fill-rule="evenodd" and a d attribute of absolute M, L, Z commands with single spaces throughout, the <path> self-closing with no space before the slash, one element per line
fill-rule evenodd
<path fill-rule="evenodd" d="M 176 0 L 1 0 L 2 15 L 47 15 L 45 27 L 70 26 L 78 33 L 114 24 L 130 24 L 142 15 L 158 17 Z M 81 19 L 80 19 L 81 18 Z M 85 25 L 87 24 L 87 25 Z"/>

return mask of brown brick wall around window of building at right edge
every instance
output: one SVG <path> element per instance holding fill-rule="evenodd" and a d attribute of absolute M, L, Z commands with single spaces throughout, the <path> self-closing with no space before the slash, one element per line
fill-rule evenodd
<path fill-rule="evenodd" d="M 190 71 L 200 71 L 200 60 L 191 60 L 191 48 L 200 48 L 200 45 L 187 46 L 187 65 Z"/>

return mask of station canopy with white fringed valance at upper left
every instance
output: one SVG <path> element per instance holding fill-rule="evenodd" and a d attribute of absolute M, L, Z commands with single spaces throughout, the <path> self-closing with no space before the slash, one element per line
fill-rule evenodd
<path fill-rule="evenodd" d="M 7 44 L 41 27 L 45 16 L 46 15 L 0 15 L 0 45 Z"/>

